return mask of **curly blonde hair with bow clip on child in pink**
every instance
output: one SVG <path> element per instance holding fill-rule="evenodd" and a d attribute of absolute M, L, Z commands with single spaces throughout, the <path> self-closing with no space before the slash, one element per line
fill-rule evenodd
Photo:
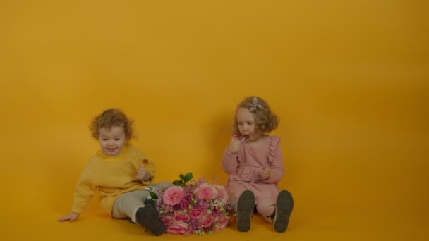
<path fill-rule="evenodd" d="M 260 97 L 250 96 L 241 101 L 236 108 L 234 123 L 232 125 L 232 134 L 234 135 L 241 135 L 237 123 L 237 111 L 240 108 L 246 108 L 253 113 L 253 118 L 255 118 L 255 131 L 257 132 L 270 133 L 279 125 L 279 119 L 277 115 L 271 111 L 267 101 Z"/>

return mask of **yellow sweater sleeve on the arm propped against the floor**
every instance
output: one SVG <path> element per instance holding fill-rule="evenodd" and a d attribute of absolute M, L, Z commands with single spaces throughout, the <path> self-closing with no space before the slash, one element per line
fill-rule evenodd
<path fill-rule="evenodd" d="M 71 206 L 71 211 L 76 214 L 83 214 L 96 190 L 97 187 L 95 187 L 90 176 L 84 170 L 82 174 L 80 174 L 78 184 L 76 185 L 75 192 L 73 194 L 73 205 Z"/>

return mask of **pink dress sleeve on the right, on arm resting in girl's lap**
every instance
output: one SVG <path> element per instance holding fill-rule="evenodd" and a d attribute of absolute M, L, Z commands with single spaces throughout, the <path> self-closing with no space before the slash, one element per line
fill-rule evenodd
<path fill-rule="evenodd" d="M 268 143 L 268 161 L 270 162 L 271 175 L 267 183 L 278 183 L 284 175 L 283 154 L 280 148 L 280 137 L 273 135 Z"/>

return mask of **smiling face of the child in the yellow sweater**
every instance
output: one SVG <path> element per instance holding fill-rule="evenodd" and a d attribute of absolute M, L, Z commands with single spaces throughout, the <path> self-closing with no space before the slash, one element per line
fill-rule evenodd
<path fill-rule="evenodd" d="M 112 126 L 110 129 L 99 128 L 99 146 L 107 156 L 116 156 L 121 153 L 126 142 L 123 126 Z"/>

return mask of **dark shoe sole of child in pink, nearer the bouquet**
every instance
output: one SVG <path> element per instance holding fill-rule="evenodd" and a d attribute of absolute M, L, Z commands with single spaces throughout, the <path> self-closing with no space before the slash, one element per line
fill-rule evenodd
<path fill-rule="evenodd" d="M 246 190 L 241 193 L 237 202 L 237 228 L 240 232 L 247 232 L 250 229 L 250 218 L 255 209 L 255 195 Z"/>

